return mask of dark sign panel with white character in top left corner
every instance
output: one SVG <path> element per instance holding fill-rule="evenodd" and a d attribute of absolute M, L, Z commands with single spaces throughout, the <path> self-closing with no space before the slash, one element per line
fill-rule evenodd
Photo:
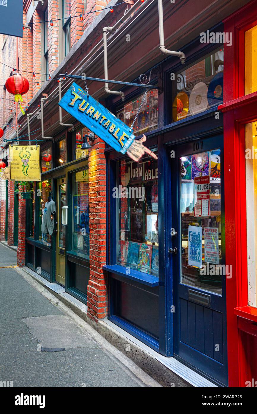
<path fill-rule="evenodd" d="M 0 33 L 23 36 L 22 0 L 0 0 Z"/>

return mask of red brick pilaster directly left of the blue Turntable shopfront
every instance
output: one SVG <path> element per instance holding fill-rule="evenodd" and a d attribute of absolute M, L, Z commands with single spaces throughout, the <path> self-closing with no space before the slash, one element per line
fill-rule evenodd
<path fill-rule="evenodd" d="M 106 263 L 106 161 L 105 144 L 96 138 L 89 152 L 90 280 L 87 286 L 87 314 L 93 319 L 107 314 Z"/>

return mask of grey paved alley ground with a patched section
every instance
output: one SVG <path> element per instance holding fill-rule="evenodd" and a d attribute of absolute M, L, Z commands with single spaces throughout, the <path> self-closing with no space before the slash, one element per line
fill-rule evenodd
<path fill-rule="evenodd" d="M 1 381 L 13 387 L 160 387 L 12 265 L 16 252 L 0 244 Z"/>

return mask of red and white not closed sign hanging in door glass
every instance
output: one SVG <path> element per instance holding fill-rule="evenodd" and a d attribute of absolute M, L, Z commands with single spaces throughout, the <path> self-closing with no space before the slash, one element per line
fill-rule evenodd
<path fill-rule="evenodd" d="M 194 217 L 210 216 L 210 177 L 194 178 Z"/>

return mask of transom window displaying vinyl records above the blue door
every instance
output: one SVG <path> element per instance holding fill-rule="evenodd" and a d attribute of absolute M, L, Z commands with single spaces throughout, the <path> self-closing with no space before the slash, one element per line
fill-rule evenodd
<path fill-rule="evenodd" d="M 174 85 L 173 122 L 206 111 L 223 102 L 223 49 L 182 72 L 170 74 Z"/>

